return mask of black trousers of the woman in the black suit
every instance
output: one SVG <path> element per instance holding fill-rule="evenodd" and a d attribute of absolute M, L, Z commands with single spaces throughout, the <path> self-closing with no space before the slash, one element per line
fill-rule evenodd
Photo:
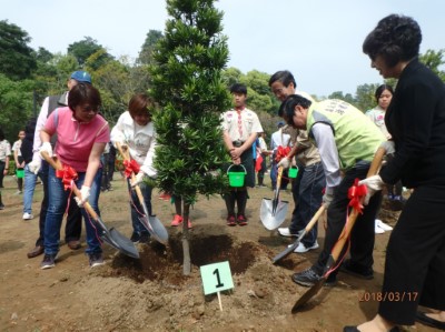
<path fill-rule="evenodd" d="M 445 188 L 416 188 L 386 250 L 378 313 L 413 325 L 417 305 L 445 311 Z"/>

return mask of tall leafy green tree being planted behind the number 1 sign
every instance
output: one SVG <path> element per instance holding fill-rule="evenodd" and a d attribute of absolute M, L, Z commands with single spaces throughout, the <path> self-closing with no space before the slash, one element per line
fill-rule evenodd
<path fill-rule="evenodd" d="M 214 0 L 167 0 L 165 37 L 154 50 L 150 94 L 159 103 L 154 120 L 159 148 L 157 185 L 182 199 L 184 274 L 191 271 L 190 205 L 198 194 L 221 193 L 227 160 L 220 113 L 230 105 L 221 70 L 228 61 L 222 12 Z"/>

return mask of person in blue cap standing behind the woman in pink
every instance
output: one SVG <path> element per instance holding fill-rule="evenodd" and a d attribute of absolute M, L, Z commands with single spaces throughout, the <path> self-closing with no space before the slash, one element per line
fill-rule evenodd
<path fill-rule="evenodd" d="M 40 209 L 39 217 L 39 238 L 36 241 L 36 247 L 28 252 L 28 258 L 32 259 L 43 253 L 43 233 L 44 233 L 44 219 L 47 215 L 48 208 L 48 163 L 43 161 L 39 155 L 39 149 L 41 147 L 40 140 L 40 131 L 43 129 L 47 118 L 58 108 L 68 105 L 68 94 L 69 91 L 76 87 L 79 82 L 91 84 L 91 76 L 82 70 L 75 71 L 70 74 L 67 81 L 68 91 L 62 94 L 57 95 L 48 95 L 43 104 L 40 109 L 39 118 L 37 119 L 36 132 L 34 132 L 34 141 L 33 141 L 33 157 L 32 161 L 24 167 L 24 173 L 27 179 L 31 179 L 32 177 L 37 179 L 37 174 L 40 173 L 40 178 L 42 179 L 43 184 L 43 200 Z M 51 143 L 52 145 L 56 143 L 57 138 L 53 138 Z M 27 183 L 28 182 L 28 183 Z M 36 185 L 36 181 L 24 181 L 24 187 L 27 185 Z M 27 192 L 27 188 L 24 189 Z M 31 191 L 28 191 L 31 192 Z M 82 231 L 82 214 L 80 212 L 79 207 L 73 201 L 73 197 L 71 198 L 71 202 L 69 204 L 68 215 L 67 215 L 67 224 L 65 229 L 65 241 L 68 243 L 68 247 L 71 250 L 80 249 L 80 233 Z M 32 219 L 33 215 L 26 213 L 23 214 L 23 219 Z"/>

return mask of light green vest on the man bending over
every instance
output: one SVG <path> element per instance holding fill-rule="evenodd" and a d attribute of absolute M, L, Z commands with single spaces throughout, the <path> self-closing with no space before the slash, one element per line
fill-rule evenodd
<path fill-rule="evenodd" d="M 306 123 L 312 139 L 312 129 L 317 122 L 327 123 L 333 129 L 342 170 L 349 170 L 358 161 L 373 161 L 374 153 L 385 141 L 377 125 L 342 100 L 327 99 L 310 105 Z"/>

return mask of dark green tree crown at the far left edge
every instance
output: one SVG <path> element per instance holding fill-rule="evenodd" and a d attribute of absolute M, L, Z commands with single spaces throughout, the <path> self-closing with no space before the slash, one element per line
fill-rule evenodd
<path fill-rule="evenodd" d="M 28 32 L 7 20 L 0 21 L 0 73 L 11 80 L 23 80 L 37 67 Z"/>

